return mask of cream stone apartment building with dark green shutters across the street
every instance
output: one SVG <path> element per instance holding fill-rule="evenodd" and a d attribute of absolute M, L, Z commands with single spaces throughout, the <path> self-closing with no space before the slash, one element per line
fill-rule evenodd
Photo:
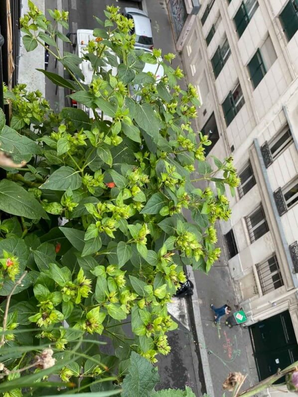
<path fill-rule="evenodd" d="M 182 58 L 241 177 L 221 231 L 264 379 L 298 360 L 298 0 L 202 0 Z"/>

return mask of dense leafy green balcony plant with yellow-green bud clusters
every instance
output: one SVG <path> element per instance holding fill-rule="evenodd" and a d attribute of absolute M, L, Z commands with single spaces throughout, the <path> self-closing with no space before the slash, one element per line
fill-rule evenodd
<path fill-rule="evenodd" d="M 57 28 L 67 28 L 67 12 L 49 10 L 49 21 L 29 7 L 20 21 L 26 50 L 50 45 L 72 78 L 41 72 L 94 119 L 81 109 L 54 112 L 22 84 L 5 91 L 0 392 L 151 396 L 159 379 L 152 364 L 169 353 L 166 333 L 177 327 L 166 305 L 184 264 L 208 272 L 218 259 L 214 224 L 229 218 L 224 185 L 238 184 L 235 168 L 231 158 L 206 161 L 211 141 L 191 127 L 194 87 L 179 87 L 173 54 L 161 60 L 160 50 L 134 49 L 132 20 L 117 7 L 107 7 L 105 22 L 96 18 L 89 85 L 82 59 L 56 44 L 69 42 Z M 161 63 L 164 76 L 143 73 L 145 62 Z M 214 181 L 217 195 L 196 188 L 198 180 Z"/>

